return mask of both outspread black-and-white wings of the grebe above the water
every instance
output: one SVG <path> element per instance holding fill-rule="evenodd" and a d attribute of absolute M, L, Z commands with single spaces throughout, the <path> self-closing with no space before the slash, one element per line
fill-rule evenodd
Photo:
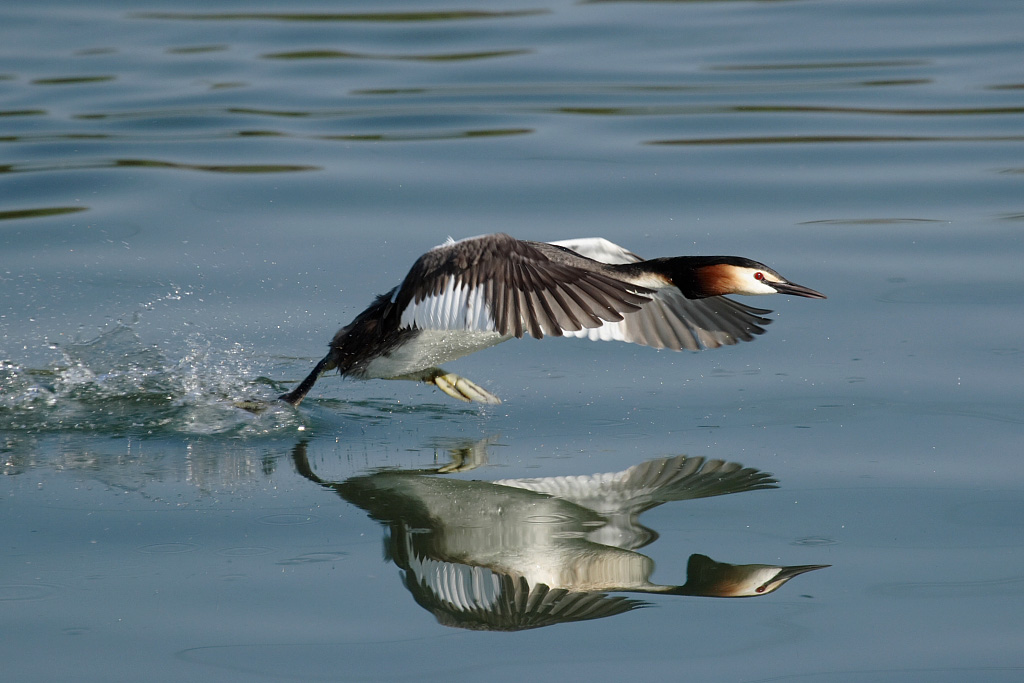
<path fill-rule="evenodd" d="M 687 299 L 674 287 L 623 282 L 599 263 L 642 259 L 607 240 L 535 243 L 505 234 L 424 254 L 394 294 L 400 327 L 618 340 L 674 350 L 762 334 L 769 311 L 725 297 Z M 595 263 L 597 261 L 597 263 Z"/>

